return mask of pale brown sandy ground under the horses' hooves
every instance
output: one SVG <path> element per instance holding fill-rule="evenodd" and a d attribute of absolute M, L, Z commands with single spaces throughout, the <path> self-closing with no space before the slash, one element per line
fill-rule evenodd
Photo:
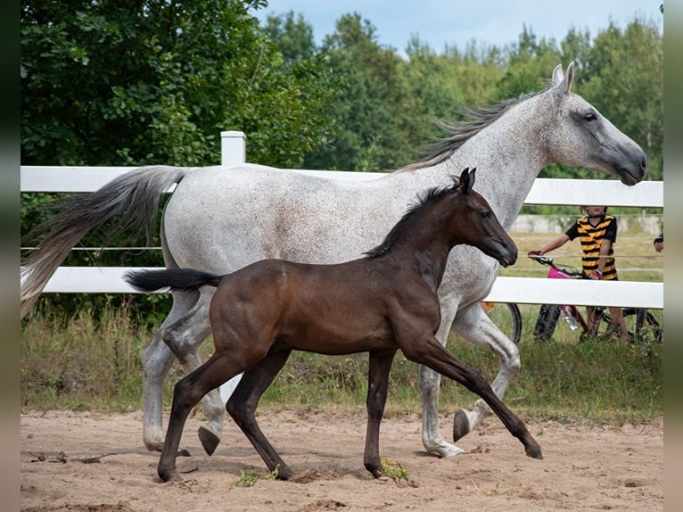
<path fill-rule="evenodd" d="M 451 417 L 442 417 L 442 428 Z M 208 457 L 188 420 L 178 458 L 185 480 L 160 483 L 158 454 L 142 445 L 142 413 L 118 415 L 24 411 L 21 415 L 21 510 L 632 510 L 664 509 L 663 418 L 644 425 L 528 424 L 544 460 L 491 417 L 458 445 L 466 454 L 436 458 L 422 450 L 416 415 L 385 418 L 383 457 L 408 480 L 374 480 L 363 467 L 365 414 L 262 411 L 264 433 L 292 468 L 289 482 L 267 468 L 228 419 Z M 444 431 L 446 433 L 446 431 Z M 252 486 L 237 484 L 257 475 Z"/>

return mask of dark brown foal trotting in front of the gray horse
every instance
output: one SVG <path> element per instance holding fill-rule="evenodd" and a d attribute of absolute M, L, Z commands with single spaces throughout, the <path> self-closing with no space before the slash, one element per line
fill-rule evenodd
<path fill-rule="evenodd" d="M 158 472 L 177 480 L 176 456 L 190 410 L 211 390 L 244 372 L 226 409 L 267 467 L 281 479 L 292 471 L 261 432 L 259 399 L 292 350 L 322 354 L 369 352 L 364 463 L 383 475 L 379 430 L 391 362 L 397 350 L 478 394 L 524 445 L 542 458 L 539 444 L 506 408 L 486 380 L 454 358 L 435 334 L 440 325 L 437 290 L 448 252 L 469 244 L 508 266 L 517 249 L 488 202 L 472 190 L 474 170 L 452 187 L 430 190 L 364 258 L 338 265 L 261 260 L 226 276 L 192 269 L 136 272 L 128 282 L 149 292 L 218 286 L 210 306 L 215 351 L 176 384 Z"/>

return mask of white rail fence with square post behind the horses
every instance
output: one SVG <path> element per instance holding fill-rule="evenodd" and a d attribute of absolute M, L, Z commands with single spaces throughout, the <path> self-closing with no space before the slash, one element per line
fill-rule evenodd
<path fill-rule="evenodd" d="M 221 164 L 243 161 L 243 133 L 221 132 Z M 135 168 L 21 166 L 21 192 L 90 192 L 132 169 Z M 376 173 L 292 170 L 334 179 L 363 180 L 381 176 Z M 661 181 L 624 186 L 616 180 L 539 178 L 525 203 L 663 207 L 663 189 Z M 136 268 L 60 267 L 45 286 L 44 293 L 136 293 L 122 278 L 132 269 Z M 663 291 L 663 283 L 498 277 L 487 301 L 663 309 Z"/>

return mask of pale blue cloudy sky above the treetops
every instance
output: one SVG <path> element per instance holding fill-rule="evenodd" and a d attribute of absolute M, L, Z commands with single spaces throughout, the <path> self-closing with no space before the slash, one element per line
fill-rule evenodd
<path fill-rule="evenodd" d="M 265 20 L 268 14 L 300 13 L 320 45 L 342 14 L 358 12 L 374 25 L 380 45 L 405 55 L 414 36 L 440 53 L 445 45 L 463 49 L 473 39 L 497 46 L 516 43 L 524 25 L 537 40 L 554 37 L 557 43 L 572 27 L 588 29 L 595 37 L 610 21 L 623 29 L 636 16 L 663 30 L 660 4 L 662 0 L 268 0 L 268 7 L 255 15 Z"/>

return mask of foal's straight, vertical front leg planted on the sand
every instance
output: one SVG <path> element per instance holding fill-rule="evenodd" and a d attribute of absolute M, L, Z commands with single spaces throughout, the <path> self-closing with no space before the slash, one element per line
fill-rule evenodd
<path fill-rule="evenodd" d="M 396 351 L 370 352 L 370 364 L 367 373 L 366 452 L 363 463 L 375 478 L 384 475 L 382 458 L 380 458 L 380 424 L 387 401 L 391 362 L 395 354 Z"/>

